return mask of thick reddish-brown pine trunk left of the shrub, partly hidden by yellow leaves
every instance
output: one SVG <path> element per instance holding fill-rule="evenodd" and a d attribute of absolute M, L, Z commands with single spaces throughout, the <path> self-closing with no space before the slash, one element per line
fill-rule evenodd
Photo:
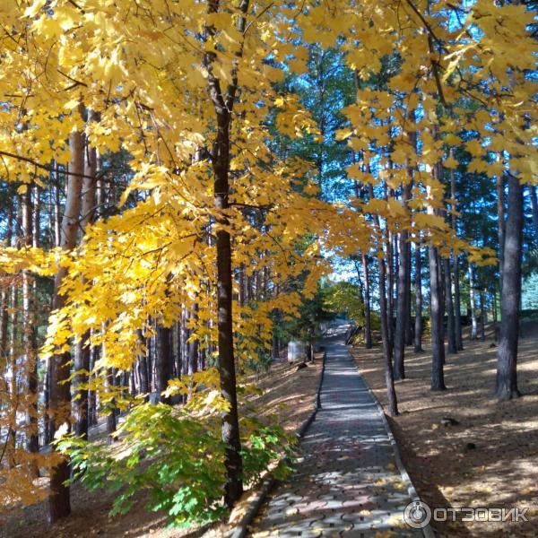
<path fill-rule="evenodd" d="M 82 133 L 74 131 L 69 135 L 71 161 L 69 162 L 70 176 L 67 180 L 64 218 L 62 220 L 60 247 L 72 250 L 76 245 L 76 236 L 81 212 L 82 173 L 84 170 L 84 141 Z M 61 267 L 55 277 L 53 308 L 60 309 L 65 304 L 65 297 L 60 294 L 60 286 L 66 275 L 66 269 Z M 71 383 L 70 379 L 71 353 L 65 351 L 50 358 L 50 411 L 52 412 L 52 431 L 56 432 L 63 424 L 70 424 L 71 416 Z M 69 427 L 69 426 L 68 426 Z M 71 512 L 69 486 L 69 463 L 67 459 L 51 470 L 50 495 L 48 498 L 48 517 L 51 523 Z"/>

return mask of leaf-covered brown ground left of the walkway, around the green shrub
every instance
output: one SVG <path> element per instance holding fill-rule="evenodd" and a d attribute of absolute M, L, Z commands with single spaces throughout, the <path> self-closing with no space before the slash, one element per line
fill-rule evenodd
<path fill-rule="evenodd" d="M 267 374 L 260 376 L 258 386 L 263 390 L 263 395 L 256 398 L 256 405 L 263 410 L 263 414 L 277 414 L 286 430 L 299 430 L 315 407 L 321 357 L 321 353 L 318 353 L 316 360 L 303 369 L 285 362 L 275 363 Z M 3 515 L 0 538 L 194 538 L 205 530 L 167 529 L 165 514 L 144 508 L 147 497 L 143 493 L 136 496 L 134 507 L 126 515 L 111 518 L 108 512 L 114 497 L 115 494 L 104 490 L 85 490 L 77 482 L 72 487 L 70 516 L 56 525 L 48 525 L 46 503 L 16 508 L 7 516 Z"/>

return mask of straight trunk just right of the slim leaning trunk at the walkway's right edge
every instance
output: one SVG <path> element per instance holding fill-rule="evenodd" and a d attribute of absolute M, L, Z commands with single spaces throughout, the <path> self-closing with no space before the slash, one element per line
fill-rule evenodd
<path fill-rule="evenodd" d="M 407 207 L 407 201 L 411 195 L 411 184 L 404 185 L 403 188 L 403 204 Z M 398 297 L 396 311 L 396 327 L 395 327 L 395 379 L 405 378 L 404 356 L 405 356 L 405 330 L 407 327 L 407 318 L 409 317 L 409 290 L 407 288 L 410 283 L 408 278 L 409 271 L 409 248 L 407 244 L 407 230 L 400 231 L 399 238 L 399 264 L 398 264 Z"/>

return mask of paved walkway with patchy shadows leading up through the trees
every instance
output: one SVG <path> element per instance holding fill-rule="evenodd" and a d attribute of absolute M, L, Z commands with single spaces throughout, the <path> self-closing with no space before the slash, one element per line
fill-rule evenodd
<path fill-rule="evenodd" d="M 410 499 L 377 405 L 343 337 L 333 340 L 297 471 L 273 491 L 250 535 L 421 536 L 404 524 Z"/>

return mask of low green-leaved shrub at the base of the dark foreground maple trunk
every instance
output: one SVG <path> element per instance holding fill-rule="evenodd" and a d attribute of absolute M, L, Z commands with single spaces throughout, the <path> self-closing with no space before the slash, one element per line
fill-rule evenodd
<path fill-rule="evenodd" d="M 128 512 L 134 495 L 146 490 L 146 507 L 165 511 L 169 525 L 204 524 L 226 513 L 222 405 L 214 390 L 194 393 L 189 403 L 178 407 L 138 404 L 117 430 L 120 442 L 106 445 L 69 434 L 56 445 L 71 458 L 71 482 L 80 479 L 90 490 L 117 492 L 111 516 Z M 241 431 L 246 484 L 256 482 L 281 456 L 291 456 L 291 436 L 257 420 L 255 410 L 242 419 Z M 286 464 L 276 470 L 279 477 L 287 471 Z"/>

